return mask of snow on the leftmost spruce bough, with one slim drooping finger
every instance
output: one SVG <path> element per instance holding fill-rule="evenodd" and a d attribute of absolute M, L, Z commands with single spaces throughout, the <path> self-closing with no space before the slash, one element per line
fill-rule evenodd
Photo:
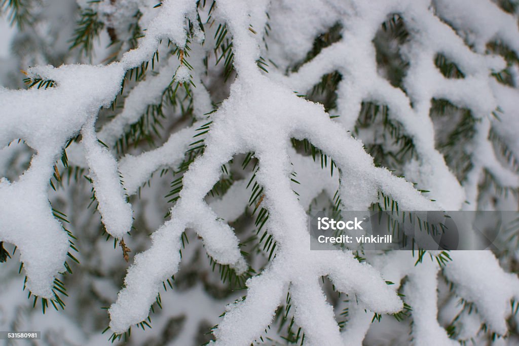
<path fill-rule="evenodd" d="M 56 87 L 16 91 L 0 88 L 0 102 L 3 105 L 1 114 L 4 119 L 4 126 L 0 129 L 0 146 L 4 147 L 21 138 L 37 151 L 30 169 L 19 181 L 11 184 L 4 178 L 0 186 L 0 197 L 5 201 L 0 209 L 0 218 L 3 220 L 0 224 L 0 238 L 20 248 L 21 260 L 28 273 L 28 286 L 35 295 L 53 298 L 52 281 L 61 271 L 69 246 L 60 223 L 52 217 L 46 191 L 54 162 L 61 156 L 66 142 L 81 129 L 85 157 L 106 230 L 115 238 L 121 238 L 130 230 L 131 206 L 126 202 L 125 192 L 119 182 L 115 158 L 97 142 L 95 117 L 99 108 L 110 106 L 120 91 L 126 70 L 151 57 L 160 38 L 169 37 L 178 46 L 184 46 L 184 26 L 169 25 L 171 16 L 183 18 L 196 7 L 193 2 L 184 1 L 184 12 L 179 12 L 178 6 L 177 3 L 171 5 L 171 2 L 166 2 L 163 11 L 148 27 L 140 48 L 127 53 L 121 62 L 107 66 L 37 66 L 28 70 L 29 76 L 51 79 L 56 82 Z M 182 23 L 182 20 L 176 22 Z M 174 63 L 174 59 L 171 61 Z M 140 92 L 146 87 L 144 85 L 135 90 L 134 93 L 139 94 L 140 104 L 157 102 L 157 93 L 170 80 L 166 74 L 157 79 L 156 82 L 150 82 L 155 89 L 148 93 Z M 128 108 L 131 109 L 129 114 L 119 116 L 117 122 L 106 128 L 108 140 L 115 141 L 122 128 L 136 121 L 136 115 L 142 113 L 131 103 Z M 31 217 L 26 216 L 28 213 Z M 11 225 L 17 225 L 16 231 Z M 38 251 L 38 248 L 45 248 L 46 251 Z"/>

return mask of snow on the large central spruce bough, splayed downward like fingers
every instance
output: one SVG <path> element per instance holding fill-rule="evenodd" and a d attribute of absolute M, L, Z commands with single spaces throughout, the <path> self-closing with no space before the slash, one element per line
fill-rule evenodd
<path fill-rule="evenodd" d="M 230 11 L 225 3 L 218 8 L 223 13 Z M 238 11 L 233 7 L 237 23 L 247 16 L 244 12 L 242 17 L 238 17 Z M 231 21 L 229 25 L 237 24 Z M 270 211 L 267 227 L 279 247 L 269 268 L 247 283 L 250 289 L 247 299 L 229 308 L 215 332 L 218 337 L 216 343 L 228 344 L 228 340 L 239 340 L 238 343 L 244 344 L 259 337 L 279 304 L 281 287 L 289 283 L 296 292 L 294 305 L 299 311 L 298 323 L 304 326 L 309 342 L 329 340 L 332 344 L 336 343 L 341 337 L 338 328 L 333 327 L 331 307 L 324 299 L 317 298 L 322 296 L 319 286 L 307 287 L 308 282 L 317 282 L 319 276 L 330 274 L 339 289 L 357 293 L 367 306 L 381 312 L 396 312 L 400 310 L 401 302 L 370 266 L 359 264 L 350 254 L 326 256 L 319 253 L 320 256 L 317 256 L 310 251 L 306 241 L 301 241 L 301 235 L 308 233 L 304 209 L 292 192 L 288 179 L 290 138 L 307 137 L 334 157 L 339 169 L 348 176 L 341 182 L 342 193 L 346 201 L 355 204 L 347 207 L 366 209 L 377 199 L 377 188 L 388 190 L 395 198 L 408 201 L 409 206 L 413 205 L 414 208 L 427 210 L 434 207 L 433 203 L 420 196 L 410 183 L 391 176 L 387 170 L 375 168 L 371 157 L 363 151 L 362 144 L 343 136 L 344 128 L 332 122 L 322 106 L 299 99 L 289 88 L 262 76 L 250 61 L 257 53 L 253 36 L 241 33 L 235 36 L 234 44 L 243 47 L 243 56 L 240 56 L 238 49 L 236 53 L 239 77 L 231 87 L 229 98 L 212 116 L 213 123 L 205 140 L 207 149 L 184 175 L 181 199 L 171 209 L 171 219 L 154 233 L 153 245 L 135 257 L 134 265 L 126 276 L 125 287 L 109 310 L 111 328 L 116 333 L 122 333 L 148 315 L 161 282 L 178 268 L 180 257 L 172 254 L 180 250 L 178 239 L 186 227 L 195 229 L 203 238 L 208 254 L 218 262 L 231 264 L 238 271 L 246 268 L 232 230 L 215 220 L 216 214 L 203 202 L 203 197 L 220 176 L 222 164 L 235 154 L 254 151 L 260 161 L 256 177 L 265 188 L 263 203 Z M 269 120 L 273 117 L 276 118 L 276 126 L 272 126 Z M 265 141 L 265 138 L 269 140 Z M 285 215 L 293 216 L 290 224 Z M 332 265 L 337 262 L 344 265 Z M 354 282 L 347 279 L 351 273 L 355 273 L 352 276 L 357 278 Z M 363 279 L 358 280 L 359 276 Z M 272 282 L 276 285 L 272 286 Z M 271 294 L 272 290 L 278 293 Z M 309 301 L 313 304 L 311 307 L 308 306 Z M 322 311 L 319 313 L 322 316 L 319 325 L 310 319 L 312 315 L 309 311 L 315 309 Z M 251 313 L 256 316 L 254 319 Z M 248 331 L 239 328 L 244 321 L 247 321 Z"/>

